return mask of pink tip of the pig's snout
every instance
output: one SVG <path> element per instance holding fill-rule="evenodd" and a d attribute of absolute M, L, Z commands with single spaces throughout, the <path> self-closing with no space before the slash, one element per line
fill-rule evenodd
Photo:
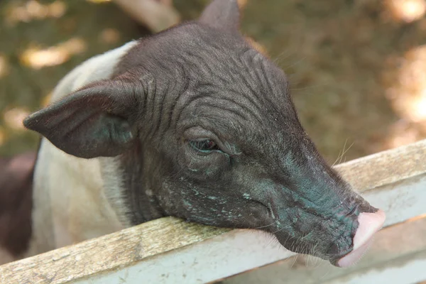
<path fill-rule="evenodd" d="M 348 267 L 359 261 L 371 244 L 373 234 L 381 229 L 385 219 L 385 212 L 381 210 L 376 213 L 363 212 L 359 214 L 359 226 L 354 236 L 354 249 L 343 258 L 340 258 L 337 261 L 337 266 Z"/>

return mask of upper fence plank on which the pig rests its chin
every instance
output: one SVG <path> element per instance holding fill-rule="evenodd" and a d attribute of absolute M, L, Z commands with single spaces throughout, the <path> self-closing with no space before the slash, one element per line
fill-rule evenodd
<path fill-rule="evenodd" d="M 425 213 L 425 160 L 421 141 L 337 168 L 390 225 Z M 206 283 L 292 255 L 260 231 L 168 217 L 0 266 L 0 283 Z"/>

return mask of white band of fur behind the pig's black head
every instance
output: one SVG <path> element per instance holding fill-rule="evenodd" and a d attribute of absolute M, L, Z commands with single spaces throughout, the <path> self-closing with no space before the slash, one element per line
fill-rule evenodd
<path fill-rule="evenodd" d="M 83 62 L 60 81 L 52 100 L 110 77 L 121 56 L 135 44 L 127 43 Z M 118 170 L 114 158 L 76 158 L 43 138 L 35 165 L 33 236 L 27 256 L 129 226 Z M 113 204 L 107 195 L 115 200 Z"/>

